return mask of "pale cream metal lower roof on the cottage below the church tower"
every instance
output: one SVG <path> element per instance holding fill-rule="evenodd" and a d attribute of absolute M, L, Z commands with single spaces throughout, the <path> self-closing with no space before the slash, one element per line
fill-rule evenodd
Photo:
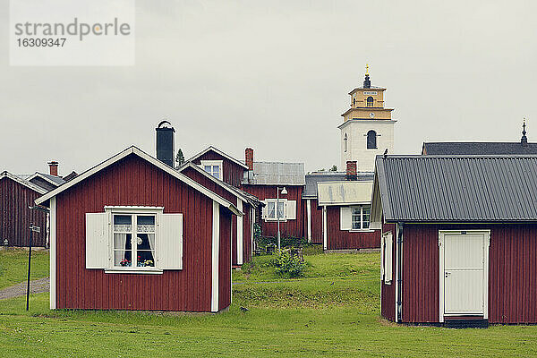
<path fill-rule="evenodd" d="M 372 181 L 318 183 L 319 205 L 365 204 L 371 200 Z"/>

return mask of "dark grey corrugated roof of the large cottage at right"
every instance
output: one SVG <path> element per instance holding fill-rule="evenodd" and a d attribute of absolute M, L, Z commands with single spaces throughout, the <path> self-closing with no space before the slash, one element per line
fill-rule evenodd
<path fill-rule="evenodd" d="M 372 206 L 372 221 L 537 221 L 537 156 L 378 156 Z"/>

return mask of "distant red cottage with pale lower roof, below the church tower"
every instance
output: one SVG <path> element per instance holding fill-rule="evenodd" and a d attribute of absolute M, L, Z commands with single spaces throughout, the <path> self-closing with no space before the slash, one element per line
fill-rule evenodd
<path fill-rule="evenodd" d="M 372 173 L 357 173 L 356 162 L 346 172 L 306 175 L 306 233 L 324 250 L 380 247 L 379 227 L 370 223 Z"/>

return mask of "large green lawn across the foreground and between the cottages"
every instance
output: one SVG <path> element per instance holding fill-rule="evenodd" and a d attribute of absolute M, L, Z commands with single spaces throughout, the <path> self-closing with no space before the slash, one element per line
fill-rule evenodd
<path fill-rule="evenodd" d="M 306 256 L 282 279 L 269 257 L 234 271 L 234 302 L 213 314 L 49 311 L 36 294 L 0 301 L 2 356 L 535 356 L 537 327 L 448 329 L 379 318 L 379 254 Z M 270 283 L 259 283 L 270 282 Z M 240 307 L 247 307 L 243 312 Z"/>

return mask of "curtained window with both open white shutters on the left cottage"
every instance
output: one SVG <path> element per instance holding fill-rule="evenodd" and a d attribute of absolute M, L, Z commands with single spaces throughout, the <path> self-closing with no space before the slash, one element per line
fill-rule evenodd
<path fill-rule="evenodd" d="M 183 214 L 163 208 L 106 207 L 86 214 L 86 268 L 161 272 L 183 268 Z"/>

